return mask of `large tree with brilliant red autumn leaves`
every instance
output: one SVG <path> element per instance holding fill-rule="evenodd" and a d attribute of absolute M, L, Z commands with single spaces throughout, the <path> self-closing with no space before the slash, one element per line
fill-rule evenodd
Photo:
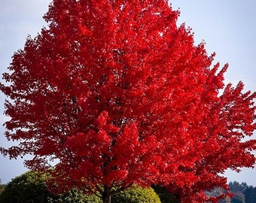
<path fill-rule="evenodd" d="M 224 170 L 255 162 L 256 141 L 242 139 L 255 93 L 224 85 L 227 65 L 177 18 L 166 0 L 53 0 L 49 26 L 3 74 L 5 136 L 20 144 L 2 153 L 32 154 L 26 166 L 50 170 L 52 190 L 86 187 L 104 203 L 133 183 L 185 202 L 227 189 Z"/>

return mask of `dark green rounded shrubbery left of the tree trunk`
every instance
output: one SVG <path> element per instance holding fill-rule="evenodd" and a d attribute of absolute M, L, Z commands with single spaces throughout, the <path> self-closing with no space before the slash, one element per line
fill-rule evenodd
<path fill-rule="evenodd" d="M 45 185 L 47 174 L 29 171 L 11 180 L 0 194 L 0 203 L 100 203 L 96 195 L 84 195 L 78 189 L 52 195 Z"/>

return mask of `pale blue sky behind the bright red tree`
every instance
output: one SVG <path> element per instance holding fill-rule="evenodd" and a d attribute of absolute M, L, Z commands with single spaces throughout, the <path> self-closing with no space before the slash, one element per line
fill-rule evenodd
<path fill-rule="evenodd" d="M 51 0 L 0 0 L 0 74 L 8 71 L 11 56 L 23 49 L 26 37 L 35 37 L 45 26 L 42 16 Z M 256 2 L 254 0 L 171 0 L 172 8 L 181 11 L 178 24 L 185 23 L 194 31 L 195 44 L 206 42 L 209 54 L 217 53 L 215 62 L 229 63 L 226 83 L 235 86 L 239 80 L 245 90 L 256 91 Z M 3 115 L 5 95 L 0 94 L 0 146 L 11 143 L 3 136 L 7 118 Z M 256 138 L 256 132 L 252 138 Z M 23 172 L 23 160 L 10 160 L 0 155 L 0 179 L 8 183 Z M 228 181 L 256 186 L 256 168 L 242 168 L 237 174 L 227 171 Z"/>

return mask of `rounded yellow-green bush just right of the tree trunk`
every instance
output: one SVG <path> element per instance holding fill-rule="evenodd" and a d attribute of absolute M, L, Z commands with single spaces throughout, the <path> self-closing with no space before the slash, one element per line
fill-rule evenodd
<path fill-rule="evenodd" d="M 160 198 L 154 189 L 141 186 L 133 186 L 114 194 L 111 197 L 112 203 L 160 203 Z"/>

